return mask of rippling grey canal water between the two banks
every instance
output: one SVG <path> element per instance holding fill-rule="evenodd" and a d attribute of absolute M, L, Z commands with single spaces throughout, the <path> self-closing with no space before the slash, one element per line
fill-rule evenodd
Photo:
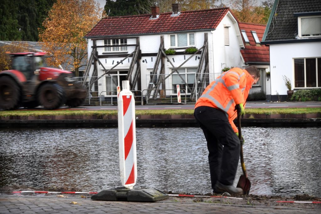
<path fill-rule="evenodd" d="M 321 128 L 244 127 L 244 160 L 258 195 L 321 196 Z M 200 128 L 137 128 L 136 187 L 211 193 Z M 0 186 L 121 186 L 117 128 L 0 130 Z M 235 185 L 242 174 L 239 166 Z"/>

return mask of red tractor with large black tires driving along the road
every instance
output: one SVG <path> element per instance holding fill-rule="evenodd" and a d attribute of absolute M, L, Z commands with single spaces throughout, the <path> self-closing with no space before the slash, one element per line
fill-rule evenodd
<path fill-rule="evenodd" d="M 0 72 L 0 109 L 43 106 L 56 109 L 63 104 L 80 106 L 86 90 L 72 72 L 45 66 L 44 52 L 10 54 L 12 70 Z"/>

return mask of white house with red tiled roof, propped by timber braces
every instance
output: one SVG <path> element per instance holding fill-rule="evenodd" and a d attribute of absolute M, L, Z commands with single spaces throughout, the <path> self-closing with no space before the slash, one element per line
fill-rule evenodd
<path fill-rule="evenodd" d="M 92 92 L 116 97 L 117 85 L 129 80 L 137 93 L 167 98 L 177 95 L 179 84 L 181 94 L 195 102 L 224 67 L 249 65 L 241 56 L 245 45 L 229 8 L 180 11 L 179 4 L 172 6 L 171 13 L 160 14 L 154 6 L 152 14 L 98 22 L 85 36 L 89 54 L 85 77 L 98 77 L 89 85 Z M 188 53 L 190 47 L 198 51 Z M 176 53 L 170 55 L 169 49 Z"/>

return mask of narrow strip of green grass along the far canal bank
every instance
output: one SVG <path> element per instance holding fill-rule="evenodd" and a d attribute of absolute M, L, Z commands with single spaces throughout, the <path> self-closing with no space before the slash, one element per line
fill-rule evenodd
<path fill-rule="evenodd" d="M 192 115 L 194 110 L 136 110 L 136 115 Z M 321 108 L 250 108 L 245 110 L 246 114 L 314 114 L 321 113 Z M 85 115 L 106 116 L 117 115 L 116 110 L 15 110 L 0 111 L 0 117 L 7 116 L 57 116 L 57 115 Z"/>

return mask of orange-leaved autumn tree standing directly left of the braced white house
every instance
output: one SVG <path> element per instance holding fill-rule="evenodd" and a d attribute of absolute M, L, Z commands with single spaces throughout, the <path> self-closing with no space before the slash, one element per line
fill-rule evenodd
<path fill-rule="evenodd" d="M 69 64 L 79 76 L 86 65 L 87 42 L 83 38 L 101 19 L 102 10 L 94 0 L 57 0 L 39 29 L 39 41 L 55 60 L 51 65 Z"/>

